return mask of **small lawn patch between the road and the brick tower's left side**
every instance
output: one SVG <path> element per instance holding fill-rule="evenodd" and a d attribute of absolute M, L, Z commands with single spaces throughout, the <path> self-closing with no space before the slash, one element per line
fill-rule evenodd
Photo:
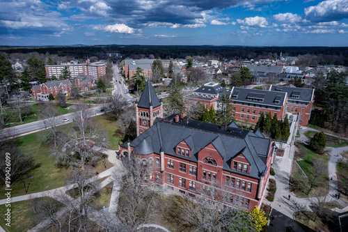
<path fill-rule="evenodd" d="M 118 143 L 122 144 L 122 139 L 125 138 L 125 134 L 122 134 L 116 125 L 116 121 L 109 119 L 107 114 L 101 114 L 95 116 L 95 121 L 100 123 L 108 134 L 109 139 L 109 149 L 118 150 Z"/>

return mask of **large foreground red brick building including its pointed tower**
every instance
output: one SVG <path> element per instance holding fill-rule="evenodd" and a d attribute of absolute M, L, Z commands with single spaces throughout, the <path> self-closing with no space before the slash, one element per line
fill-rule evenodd
<path fill-rule="evenodd" d="M 137 155 L 143 164 L 154 168 L 146 181 L 157 182 L 177 194 L 212 197 L 212 192 L 219 190 L 228 205 L 246 210 L 260 206 L 274 159 L 271 139 L 258 130 L 203 123 L 184 114 L 161 118 L 161 111 L 152 111 L 143 124 L 140 111 L 151 105 L 161 107 L 149 82 L 146 88 L 149 91 L 144 91 L 141 107 L 136 110 L 140 135 L 120 145 L 120 155 Z M 153 125 L 146 130 L 141 127 L 152 120 Z"/>

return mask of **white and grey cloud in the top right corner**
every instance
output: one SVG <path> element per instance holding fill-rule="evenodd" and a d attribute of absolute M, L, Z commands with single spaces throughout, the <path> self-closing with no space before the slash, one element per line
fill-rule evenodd
<path fill-rule="evenodd" d="M 342 20 L 348 17 L 348 0 L 327 0 L 304 9 L 313 22 Z"/>

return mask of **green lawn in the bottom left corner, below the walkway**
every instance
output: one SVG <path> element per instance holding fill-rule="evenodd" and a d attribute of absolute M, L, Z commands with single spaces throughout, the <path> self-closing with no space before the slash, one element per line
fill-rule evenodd
<path fill-rule="evenodd" d="M 27 231 L 37 224 L 40 223 L 38 219 L 36 219 L 35 212 L 33 211 L 33 207 L 31 206 L 30 201 L 18 201 L 15 203 L 11 203 L 10 212 L 11 212 L 11 226 L 6 226 L 6 221 L 4 220 L 5 213 L 8 208 L 5 205 L 0 206 L 0 213 L 2 215 L 0 220 L 1 227 L 8 232 L 24 232 Z"/>

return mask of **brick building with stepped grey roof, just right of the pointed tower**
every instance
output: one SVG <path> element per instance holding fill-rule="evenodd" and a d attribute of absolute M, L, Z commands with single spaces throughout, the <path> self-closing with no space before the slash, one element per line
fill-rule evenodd
<path fill-rule="evenodd" d="M 193 93 L 184 96 L 184 103 L 187 107 L 190 107 L 200 102 L 200 104 L 207 109 L 210 109 L 212 106 L 214 109 L 217 109 L 217 107 L 219 107 L 217 105 L 219 95 L 223 94 L 230 95 L 230 89 L 224 88 L 217 83 L 210 82 L 196 89 Z"/>

